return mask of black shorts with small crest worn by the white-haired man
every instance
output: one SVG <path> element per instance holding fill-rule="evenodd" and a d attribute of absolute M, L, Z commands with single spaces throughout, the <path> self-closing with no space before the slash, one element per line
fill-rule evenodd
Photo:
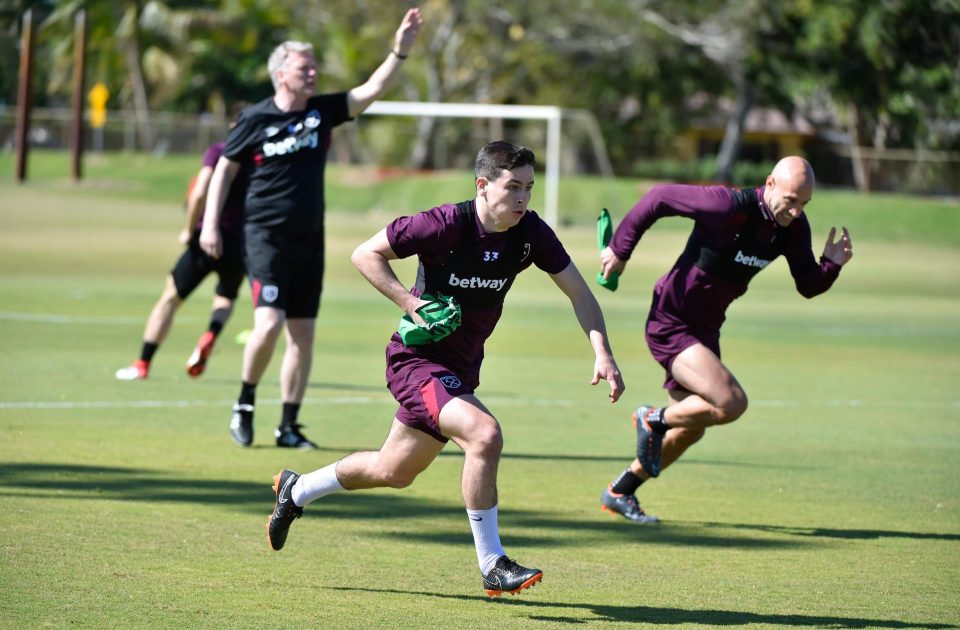
<path fill-rule="evenodd" d="M 290 319 L 313 319 L 323 290 L 323 234 L 285 234 L 244 226 L 244 251 L 254 307 L 285 311 Z"/>

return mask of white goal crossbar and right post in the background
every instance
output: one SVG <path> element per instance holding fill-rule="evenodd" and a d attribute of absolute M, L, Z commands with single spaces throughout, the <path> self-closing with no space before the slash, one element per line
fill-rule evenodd
<path fill-rule="evenodd" d="M 548 105 L 488 105 L 481 103 L 424 103 L 418 101 L 375 101 L 363 112 L 374 116 L 415 116 L 432 118 L 490 118 L 502 120 L 543 120 L 547 123 L 544 219 L 559 223 L 560 124 L 563 109 Z M 606 156 L 604 156 L 606 157 Z"/>

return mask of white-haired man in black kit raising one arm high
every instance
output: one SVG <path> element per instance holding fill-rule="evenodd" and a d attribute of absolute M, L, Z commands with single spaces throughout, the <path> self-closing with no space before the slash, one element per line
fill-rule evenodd
<path fill-rule="evenodd" d="M 300 432 L 297 419 L 323 288 L 324 169 L 331 131 L 361 114 L 392 85 L 421 25 L 420 10 L 407 11 L 380 67 L 365 83 L 334 94 L 316 94 L 310 44 L 280 44 L 267 64 L 274 95 L 244 110 L 227 138 L 210 184 L 200 245 L 213 257 L 221 255 L 220 211 L 230 182 L 241 169 L 248 172 L 244 249 L 254 328 L 244 349 L 240 396 L 230 421 L 230 434 L 241 446 L 253 443 L 256 387 L 285 329 L 283 412 L 274 432 L 276 445 L 316 447 Z"/>

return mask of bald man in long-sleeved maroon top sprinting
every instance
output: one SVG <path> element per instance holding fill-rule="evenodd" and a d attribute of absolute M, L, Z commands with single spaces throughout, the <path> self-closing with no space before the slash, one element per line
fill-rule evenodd
<path fill-rule="evenodd" d="M 633 413 L 637 458 L 601 497 L 601 508 L 611 515 L 657 522 L 637 501 L 640 484 L 675 462 L 707 427 L 733 422 L 746 411 L 746 393 L 720 361 L 720 327 L 727 307 L 746 293 L 753 276 L 783 255 L 797 291 L 812 298 L 831 287 L 853 256 L 847 229 L 834 240 L 832 227 L 819 263 L 814 258 L 803 213 L 813 188 L 813 169 L 796 156 L 780 160 L 758 188 L 656 186 L 600 252 L 604 277 L 622 273 L 640 237 L 657 219 L 694 221 L 680 258 L 654 287 L 647 318 L 647 345 L 666 370 L 668 404 L 643 405 Z"/>

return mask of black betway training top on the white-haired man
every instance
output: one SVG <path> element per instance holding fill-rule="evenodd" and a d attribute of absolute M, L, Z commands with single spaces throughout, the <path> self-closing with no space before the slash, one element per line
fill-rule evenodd
<path fill-rule="evenodd" d="M 313 96 L 298 111 L 280 111 L 270 97 L 241 112 L 223 154 L 250 173 L 248 224 L 294 234 L 323 231 L 330 132 L 347 120 L 346 92 Z"/>

